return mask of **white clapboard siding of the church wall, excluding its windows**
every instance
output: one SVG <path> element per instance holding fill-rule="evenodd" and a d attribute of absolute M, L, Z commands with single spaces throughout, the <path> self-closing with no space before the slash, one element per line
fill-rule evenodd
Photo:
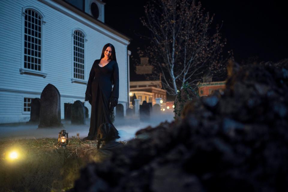
<path fill-rule="evenodd" d="M 94 28 L 99 28 L 96 24 L 57 5 L 54 1 L 46 0 L 46 2 L 81 18 Z M 21 57 L 24 54 L 24 47 L 22 47 L 24 38 L 22 8 L 26 6 L 39 10 L 44 15 L 46 22 L 42 25 L 41 33 L 41 72 L 47 74 L 46 78 L 19 73 L 19 69 L 23 68 Z M 84 101 L 87 85 L 71 82 L 73 75 L 72 34 L 74 29 L 84 32 L 87 40 L 84 50 L 85 81 L 88 81 L 93 62 L 100 58 L 103 46 L 107 43 L 115 46 L 119 65 L 119 103 L 127 104 L 127 45 L 129 42 L 120 37 L 111 38 L 94 28 L 41 1 L 0 1 L 0 123 L 29 121 L 30 115 L 23 113 L 23 98 L 40 98 L 42 90 L 48 83 L 54 85 L 60 92 L 62 119 L 64 118 L 64 103 L 73 103 L 76 100 Z M 106 33 L 111 34 L 108 31 Z M 114 36 L 116 37 L 116 35 Z M 116 39 L 121 39 L 121 41 Z M 88 107 L 90 116 L 91 105 L 85 102 L 85 106 Z"/>

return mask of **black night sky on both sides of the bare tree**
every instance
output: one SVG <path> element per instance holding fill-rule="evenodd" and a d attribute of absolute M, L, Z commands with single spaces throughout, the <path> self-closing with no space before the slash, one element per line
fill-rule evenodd
<path fill-rule="evenodd" d="M 132 38 L 128 49 L 132 56 L 137 56 L 137 47 L 144 47 L 147 40 L 140 39 L 140 34 L 149 35 L 149 31 L 140 22 L 144 15 L 145 1 L 105 2 L 105 23 Z M 223 26 L 222 36 L 227 39 L 225 52 L 233 50 L 237 62 L 258 56 L 258 61 L 279 61 L 288 58 L 288 12 L 285 1 L 201 1 L 206 12 L 215 14 L 213 24 Z M 224 53 L 225 55 L 225 53 Z M 131 81 L 144 80 L 134 73 L 130 59 Z"/>

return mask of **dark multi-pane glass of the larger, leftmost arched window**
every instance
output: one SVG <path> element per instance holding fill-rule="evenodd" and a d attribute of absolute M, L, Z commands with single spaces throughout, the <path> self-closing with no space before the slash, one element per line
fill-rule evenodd
<path fill-rule="evenodd" d="M 24 68 L 41 71 L 42 18 L 32 9 L 25 10 Z"/>

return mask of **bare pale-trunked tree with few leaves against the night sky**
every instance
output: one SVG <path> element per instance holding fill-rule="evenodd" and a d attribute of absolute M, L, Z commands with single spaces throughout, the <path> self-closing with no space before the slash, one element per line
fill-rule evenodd
<path fill-rule="evenodd" d="M 193 88 L 205 76 L 223 73 L 226 64 L 221 56 L 220 27 L 211 29 L 213 16 L 203 13 L 201 3 L 194 0 L 152 0 L 140 18 L 152 36 L 140 57 L 149 57 L 154 70 L 151 79 L 162 74 L 162 84 L 170 95 L 176 95 L 183 83 Z"/>

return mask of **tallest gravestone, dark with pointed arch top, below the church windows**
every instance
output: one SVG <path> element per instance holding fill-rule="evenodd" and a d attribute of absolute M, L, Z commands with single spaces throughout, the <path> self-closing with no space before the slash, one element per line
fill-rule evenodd
<path fill-rule="evenodd" d="M 43 89 L 40 101 L 40 124 L 38 128 L 63 127 L 58 89 L 49 83 Z"/>

